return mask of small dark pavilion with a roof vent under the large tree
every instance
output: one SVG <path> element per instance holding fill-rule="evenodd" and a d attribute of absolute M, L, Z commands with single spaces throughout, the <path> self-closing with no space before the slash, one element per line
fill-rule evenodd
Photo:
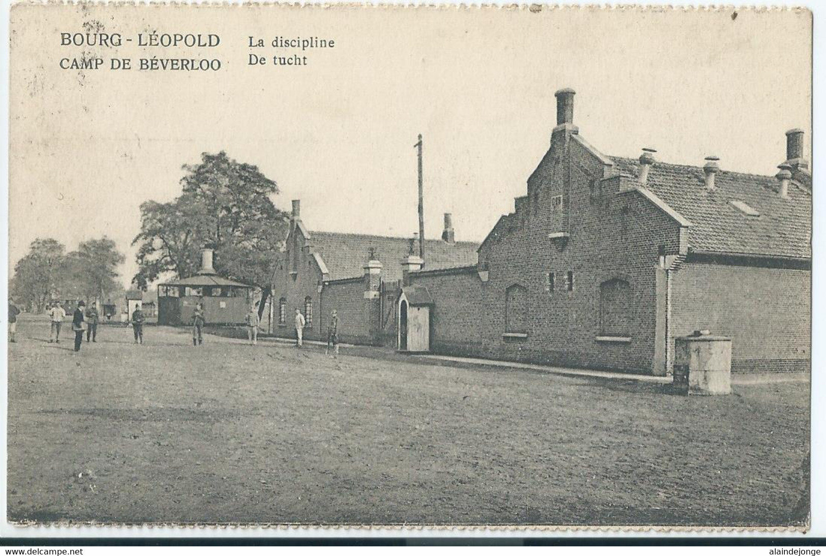
<path fill-rule="evenodd" d="M 195 305 L 202 304 L 207 324 L 244 324 L 252 303 L 253 286 L 218 276 L 212 250 L 202 251 L 195 276 L 158 285 L 158 323 L 188 325 Z"/>

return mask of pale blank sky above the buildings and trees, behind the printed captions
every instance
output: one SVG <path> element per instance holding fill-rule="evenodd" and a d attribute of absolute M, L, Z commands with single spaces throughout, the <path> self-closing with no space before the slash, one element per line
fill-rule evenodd
<path fill-rule="evenodd" d="M 59 46 L 84 22 L 131 37 L 217 33 L 221 46 Z M 249 35 L 336 44 L 304 53 L 306 67 L 252 68 Z M 222 68 L 59 68 L 81 50 L 133 64 L 214 56 Z M 525 194 L 561 87 L 577 91 L 580 134 L 609 155 L 653 147 L 701 165 L 714 154 L 724 169 L 773 175 L 793 127 L 809 153 L 805 12 L 18 6 L 11 78 L 12 269 L 35 238 L 74 249 L 107 234 L 126 253 L 125 282 L 140 203 L 177 196 L 181 167 L 205 151 L 257 165 L 278 182 L 279 208 L 301 199 L 309 229 L 407 236 L 423 134 L 426 235 L 452 212 L 457 239 L 477 241 Z"/>

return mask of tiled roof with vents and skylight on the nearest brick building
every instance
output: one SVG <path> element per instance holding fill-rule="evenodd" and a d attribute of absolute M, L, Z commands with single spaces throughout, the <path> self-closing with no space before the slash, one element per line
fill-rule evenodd
<path fill-rule="evenodd" d="M 612 159 L 621 179 L 638 185 L 638 161 Z M 714 191 L 707 191 L 702 167 L 657 162 L 645 187 L 688 219 L 688 243 L 695 251 L 811 257 L 809 190 L 791 181 L 789 196 L 783 199 L 775 177 L 721 170 L 714 179 Z M 746 214 L 735 201 L 759 216 Z"/>

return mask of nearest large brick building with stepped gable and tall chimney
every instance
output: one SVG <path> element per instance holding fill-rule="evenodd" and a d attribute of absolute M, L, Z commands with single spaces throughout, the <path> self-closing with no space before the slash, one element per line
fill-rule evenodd
<path fill-rule="evenodd" d="M 665 375 L 674 337 L 710 329 L 733 338 L 733 370 L 809 370 L 803 132 L 774 177 L 609 157 L 574 94 L 557 92 L 548 152 L 477 265 L 410 273 L 433 299 L 430 349 Z"/>

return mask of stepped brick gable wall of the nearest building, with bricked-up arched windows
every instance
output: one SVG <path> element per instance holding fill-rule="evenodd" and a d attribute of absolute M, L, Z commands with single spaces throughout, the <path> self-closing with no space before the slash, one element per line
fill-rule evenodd
<path fill-rule="evenodd" d="M 529 195 L 517 203 L 510 226 L 482 245 L 485 311 L 482 351 L 504 359 L 558 365 L 657 372 L 657 273 L 660 248 L 677 254 L 681 228 L 634 191 L 619 192 L 619 178 L 605 178 L 604 164 L 581 144 L 555 135 L 550 151 L 529 179 Z M 562 196 L 561 210 L 556 208 Z M 570 237 L 550 239 L 549 233 Z M 573 290 L 567 273 L 573 272 Z M 548 287 L 554 274 L 554 290 Z M 602 342 L 600 285 L 627 280 L 632 291 L 629 342 Z M 529 296 L 527 338 L 506 338 L 505 292 L 525 286 Z M 434 296 L 435 298 L 435 296 Z M 436 299 L 437 307 L 440 299 Z"/>

